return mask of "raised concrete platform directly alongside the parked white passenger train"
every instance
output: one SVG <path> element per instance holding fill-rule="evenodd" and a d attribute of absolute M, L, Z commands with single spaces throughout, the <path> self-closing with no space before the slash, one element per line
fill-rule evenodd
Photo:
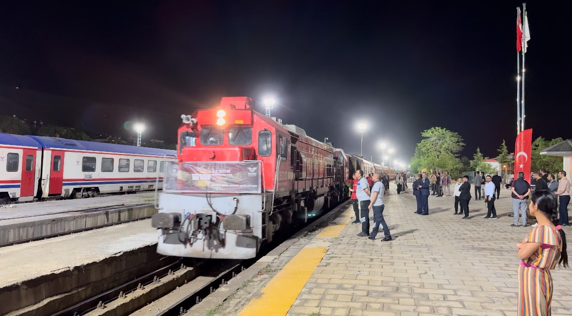
<path fill-rule="evenodd" d="M 0 246 L 70 231 L 148 218 L 154 192 L 0 206 Z"/>

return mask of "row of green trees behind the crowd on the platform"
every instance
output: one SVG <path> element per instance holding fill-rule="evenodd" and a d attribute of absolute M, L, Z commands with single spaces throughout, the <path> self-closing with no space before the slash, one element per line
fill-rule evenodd
<path fill-rule="evenodd" d="M 421 133 L 423 139 L 417 144 L 414 156 L 411 159 L 411 172 L 420 172 L 422 168 L 433 171 L 447 171 L 452 177 L 458 177 L 466 172 L 482 171 L 490 175 L 496 171 L 490 164 L 486 163 L 480 148 L 476 148 L 472 159 L 466 156 L 459 157 L 463 151 L 463 138 L 459 133 L 449 131 L 446 128 L 432 127 Z M 543 149 L 563 141 L 562 138 L 546 140 L 538 137 L 532 144 L 531 170 L 538 171 L 545 168 L 551 172 L 562 170 L 562 157 L 540 155 Z M 513 163 L 510 159 L 509 149 L 505 140 L 496 149 L 499 153 L 498 163 L 501 165 Z"/>

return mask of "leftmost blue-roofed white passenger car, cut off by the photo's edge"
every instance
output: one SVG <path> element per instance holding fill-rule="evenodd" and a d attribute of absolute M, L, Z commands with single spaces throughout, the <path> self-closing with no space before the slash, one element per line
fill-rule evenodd
<path fill-rule="evenodd" d="M 27 136 L 0 133 L 0 203 L 34 199 L 42 147 Z"/>

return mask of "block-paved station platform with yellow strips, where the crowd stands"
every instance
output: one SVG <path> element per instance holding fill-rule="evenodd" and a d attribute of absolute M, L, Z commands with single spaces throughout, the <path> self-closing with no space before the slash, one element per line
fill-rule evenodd
<path fill-rule="evenodd" d="M 353 211 L 347 207 L 328 227 L 270 258 L 272 262 L 225 303 L 191 314 L 517 314 L 515 245 L 531 227 L 510 227 L 508 190 L 496 201 L 497 220 L 483 219 L 483 200 L 471 200 L 471 219 L 462 220 L 453 215 L 450 196 L 430 196 L 430 215 L 416 215 L 411 189 L 397 195 L 393 185 L 384 202 L 391 242 L 356 236 L 360 227 L 348 224 Z M 572 229 L 565 230 L 570 240 Z M 571 271 L 557 267 L 553 278 L 553 315 L 572 315 Z"/>

